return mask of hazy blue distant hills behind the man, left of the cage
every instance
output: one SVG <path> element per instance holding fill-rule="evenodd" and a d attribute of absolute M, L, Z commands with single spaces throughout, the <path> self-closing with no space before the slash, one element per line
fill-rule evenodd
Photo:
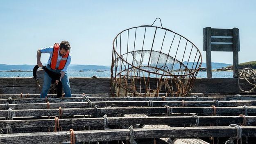
<path fill-rule="evenodd" d="M 45 64 L 44 64 L 45 65 Z M 5 65 L 0 64 L 0 71 L 10 71 L 10 70 L 33 70 L 34 65 Z M 103 65 L 70 65 L 68 66 L 69 71 L 79 71 L 79 70 L 110 70 L 110 67 Z"/>

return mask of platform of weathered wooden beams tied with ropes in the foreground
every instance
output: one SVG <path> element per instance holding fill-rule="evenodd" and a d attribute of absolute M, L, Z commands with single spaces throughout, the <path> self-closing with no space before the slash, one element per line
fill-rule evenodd
<path fill-rule="evenodd" d="M 240 126 L 242 141 L 248 139 L 249 144 L 255 142 L 254 95 L 55 96 L 39 99 L 38 94 L 29 94 L 27 97 L 20 97 L 19 94 L 0 95 L 0 128 L 4 132 L 0 135 L 0 143 L 70 143 L 69 130 L 72 128 L 76 142 L 129 143 L 133 137 L 138 144 L 208 144 L 213 143 L 213 140 L 217 143 L 217 139 L 222 144 L 229 137 L 237 135 L 237 129 L 229 125 L 243 124 L 245 120 L 246 126 Z M 13 110 L 9 109 L 11 107 Z M 238 116 L 240 114 L 246 115 L 245 118 Z M 134 136 L 129 126 L 133 126 Z M 11 134 L 7 134 L 10 130 Z M 213 140 L 209 137 L 213 137 Z"/>

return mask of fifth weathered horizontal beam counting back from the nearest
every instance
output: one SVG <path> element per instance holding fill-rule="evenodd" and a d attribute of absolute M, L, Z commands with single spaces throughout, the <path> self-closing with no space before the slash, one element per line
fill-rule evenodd
<path fill-rule="evenodd" d="M 197 101 L 196 97 L 89 97 L 91 101 Z M 199 101 L 225 101 L 226 97 L 198 97 Z M 255 97 L 256 99 L 256 97 Z M 71 98 L 48 98 L 50 103 L 60 102 L 81 102 L 84 100 L 83 97 L 71 97 Z M 239 99 L 237 99 L 239 100 Z M 45 103 L 45 99 L 0 99 L 1 104 L 5 103 Z"/>

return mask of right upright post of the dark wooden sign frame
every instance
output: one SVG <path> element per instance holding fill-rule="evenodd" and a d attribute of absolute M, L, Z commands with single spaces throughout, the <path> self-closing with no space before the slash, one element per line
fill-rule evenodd
<path fill-rule="evenodd" d="M 233 28 L 233 77 L 238 73 L 238 52 L 240 51 L 239 29 Z"/>

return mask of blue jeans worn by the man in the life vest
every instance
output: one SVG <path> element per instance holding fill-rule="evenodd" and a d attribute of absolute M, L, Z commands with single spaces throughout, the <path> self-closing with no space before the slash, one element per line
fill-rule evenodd
<path fill-rule="evenodd" d="M 47 65 L 46 68 L 48 68 L 52 72 L 61 72 L 61 70 L 52 70 L 50 65 Z M 45 72 L 44 79 L 43 79 L 43 88 L 40 94 L 40 98 L 45 98 L 48 94 L 48 90 L 51 86 L 52 78 Z M 65 97 L 71 97 L 71 90 L 70 90 L 70 84 L 68 80 L 68 73 L 65 72 L 65 75 L 61 79 L 63 89 L 65 92 Z"/>

